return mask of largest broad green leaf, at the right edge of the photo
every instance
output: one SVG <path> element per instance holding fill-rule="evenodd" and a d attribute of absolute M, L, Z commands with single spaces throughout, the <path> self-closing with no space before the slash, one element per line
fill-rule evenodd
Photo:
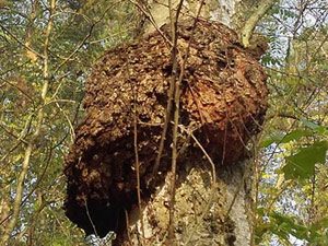
<path fill-rule="evenodd" d="M 298 153 L 285 157 L 282 172 L 286 179 L 309 178 L 314 174 L 315 164 L 324 164 L 328 149 L 327 141 L 315 142 L 313 145 L 302 148 Z"/>

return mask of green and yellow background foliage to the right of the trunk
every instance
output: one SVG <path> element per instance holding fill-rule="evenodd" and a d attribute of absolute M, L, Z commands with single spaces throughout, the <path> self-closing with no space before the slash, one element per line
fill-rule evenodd
<path fill-rule="evenodd" d="M 282 1 L 259 25 L 270 109 L 257 160 L 256 243 L 328 244 L 328 9 Z"/>

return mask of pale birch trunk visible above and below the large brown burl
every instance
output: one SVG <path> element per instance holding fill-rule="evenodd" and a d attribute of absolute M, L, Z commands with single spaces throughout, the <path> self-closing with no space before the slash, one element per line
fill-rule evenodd
<path fill-rule="evenodd" d="M 176 11 L 180 1 L 153 1 L 151 4 L 152 22 L 145 33 L 154 32 L 169 23 L 169 8 Z M 235 30 L 239 36 L 245 35 L 246 45 L 256 23 L 274 1 L 255 4 L 254 1 L 210 0 L 184 1 L 180 20 L 186 16 L 200 16 L 223 23 Z M 201 5 L 203 4 L 203 5 Z M 271 5 L 270 5 L 271 4 Z M 262 12 L 260 12 L 262 11 Z M 174 12 L 175 13 L 175 12 Z M 253 13 L 253 14 L 251 14 Z M 251 23 L 244 22 L 251 15 Z M 243 27 L 245 28 L 243 30 Z M 184 163 L 185 169 L 178 174 L 178 187 L 175 194 L 175 241 L 165 241 L 169 227 L 171 174 L 155 196 L 142 209 L 142 223 L 139 210 L 130 214 L 130 232 L 125 245 L 253 245 L 253 161 L 247 159 L 231 165 L 214 163 L 213 169 L 204 155 L 200 160 Z M 219 161 L 220 162 L 220 161 Z M 219 166 L 219 167 L 218 167 Z M 213 186 L 213 179 L 216 179 Z M 153 218 L 151 223 L 150 218 Z"/>

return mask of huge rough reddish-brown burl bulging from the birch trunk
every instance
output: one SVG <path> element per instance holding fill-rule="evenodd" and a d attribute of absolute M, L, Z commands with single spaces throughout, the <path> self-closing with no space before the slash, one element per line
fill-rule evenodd
<path fill-rule="evenodd" d="M 246 157 L 246 143 L 267 109 L 261 48 L 246 50 L 229 27 L 199 20 L 178 25 L 179 62 L 190 43 L 181 84 L 179 167 L 202 155 L 188 133 L 223 165 Z M 169 26 L 161 31 L 169 37 Z M 191 33 L 194 34 L 191 35 Z M 262 47 L 259 44 L 258 47 Z M 109 50 L 86 82 L 86 117 L 66 157 L 67 216 L 86 234 L 122 234 L 126 212 L 138 203 L 134 117 L 138 129 L 141 195 L 149 199 L 171 164 L 171 136 L 157 177 L 151 177 L 165 120 L 172 77 L 171 47 L 159 32 Z"/>

